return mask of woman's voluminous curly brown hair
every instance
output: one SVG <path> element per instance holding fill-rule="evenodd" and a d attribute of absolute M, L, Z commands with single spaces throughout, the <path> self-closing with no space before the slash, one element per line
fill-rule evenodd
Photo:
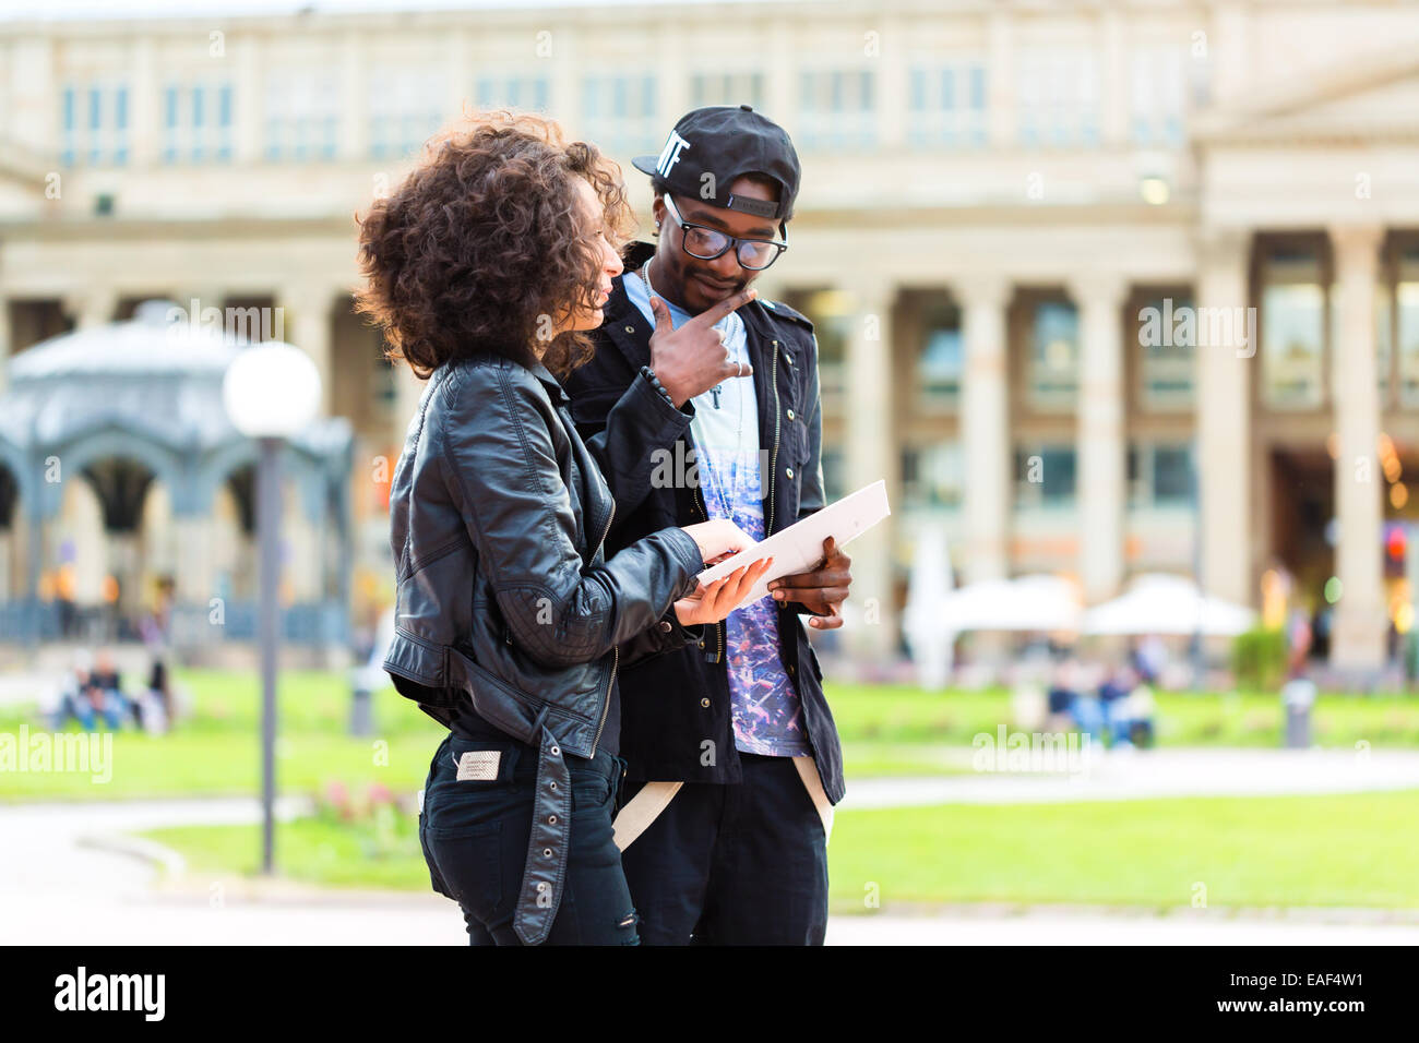
<path fill-rule="evenodd" d="M 359 312 L 383 326 L 390 362 L 420 379 L 453 358 L 495 352 L 531 366 L 536 348 L 559 377 L 592 358 L 568 331 L 596 308 L 602 254 L 583 227 L 578 177 L 596 190 L 617 247 L 633 217 L 620 167 L 587 142 L 566 142 L 553 119 L 480 112 L 434 136 L 420 165 L 359 217 L 366 285 Z"/>

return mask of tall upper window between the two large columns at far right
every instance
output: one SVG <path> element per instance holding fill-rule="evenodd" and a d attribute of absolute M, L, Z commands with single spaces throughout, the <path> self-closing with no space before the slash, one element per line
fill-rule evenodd
<path fill-rule="evenodd" d="M 1274 409 L 1321 404 L 1325 294 L 1314 250 L 1277 248 L 1261 272 L 1261 396 Z"/>

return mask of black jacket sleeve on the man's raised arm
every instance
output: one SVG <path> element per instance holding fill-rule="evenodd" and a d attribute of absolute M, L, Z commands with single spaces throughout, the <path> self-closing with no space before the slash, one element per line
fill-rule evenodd
<path fill-rule="evenodd" d="M 675 409 L 644 373 L 636 373 L 604 421 L 587 419 L 582 431 L 586 448 L 600 465 L 622 518 L 630 518 L 646 502 L 657 468 L 667 460 L 674 465 L 675 440 L 690 430 L 694 409 L 688 402 Z M 586 429 L 593 433 L 586 434 Z"/>

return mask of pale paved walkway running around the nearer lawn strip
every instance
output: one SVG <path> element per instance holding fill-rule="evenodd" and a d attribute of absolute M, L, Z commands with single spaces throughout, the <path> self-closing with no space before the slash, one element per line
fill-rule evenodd
<path fill-rule="evenodd" d="M 850 783 L 847 809 L 931 803 L 1121 800 L 1419 789 L 1419 754 L 1149 751 L 1107 754 L 1077 775 L 971 773 Z M 285 799 L 281 817 L 308 802 Z M 180 859 L 131 834 L 159 826 L 260 820 L 254 799 L 0 805 L 0 942 L 50 944 L 461 944 L 461 918 L 434 894 L 322 891 L 287 883 L 184 877 L 155 887 Z M 1338 922 L 1337 917 L 1344 917 Z M 1171 915 L 1097 910 L 951 910 L 939 915 L 834 917 L 832 944 L 1419 944 L 1419 922 L 1385 911 Z"/>

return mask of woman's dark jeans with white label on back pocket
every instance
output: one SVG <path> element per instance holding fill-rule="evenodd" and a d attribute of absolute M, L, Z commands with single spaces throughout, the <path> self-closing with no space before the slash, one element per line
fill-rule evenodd
<path fill-rule="evenodd" d="M 458 761 L 498 755 L 497 778 L 458 779 Z M 624 762 L 609 754 L 568 756 L 572 775 L 566 890 L 549 945 L 636 945 L 636 908 L 612 841 L 612 809 Z M 515 739 L 461 739 L 450 734 L 424 782 L 419 840 L 433 888 L 458 903 L 470 945 L 518 945 L 512 929 L 532 832 L 536 748 Z"/>

